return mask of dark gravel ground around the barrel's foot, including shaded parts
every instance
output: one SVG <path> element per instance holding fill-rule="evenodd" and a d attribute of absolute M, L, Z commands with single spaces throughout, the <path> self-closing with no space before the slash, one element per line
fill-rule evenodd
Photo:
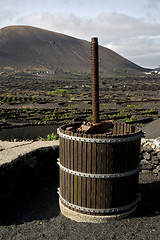
<path fill-rule="evenodd" d="M 136 211 L 107 223 L 77 223 L 64 217 L 58 206 L 58 179 L 43 183 L 6 210 L 0 226 L 3 240 L 160 239 L 160 178 L 140 173 L 142 200 Z"/>

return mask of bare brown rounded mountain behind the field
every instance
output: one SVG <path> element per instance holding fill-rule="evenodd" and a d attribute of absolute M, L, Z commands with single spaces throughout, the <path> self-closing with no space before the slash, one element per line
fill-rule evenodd
<path fill-rule="evenodd" d="M 108 48 L 99 46 L 100 72 L 144 71 Z M 0 66 L 44 66 L 90 72 L 90 42 L 29 26 L 0 29 Z"/>

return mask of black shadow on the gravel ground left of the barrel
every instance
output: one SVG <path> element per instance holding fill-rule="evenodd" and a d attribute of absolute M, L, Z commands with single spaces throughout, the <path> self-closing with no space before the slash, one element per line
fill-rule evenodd
<path fill-rule="evenodd" d="M 59 215 L 58 180 L 43 184 L 10 203 L 5 209 L 1 225 L 23 224 L 47 220 Z"/>

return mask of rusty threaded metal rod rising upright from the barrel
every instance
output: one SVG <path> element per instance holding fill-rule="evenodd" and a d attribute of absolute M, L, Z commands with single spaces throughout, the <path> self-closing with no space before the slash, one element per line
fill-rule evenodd
<path fill-rule="evenodd" d="M 92 116 L 93 124 L 99 122 L 99 69 L 98 69 L 98 38 L 91 40 L 92 68 Z"/>

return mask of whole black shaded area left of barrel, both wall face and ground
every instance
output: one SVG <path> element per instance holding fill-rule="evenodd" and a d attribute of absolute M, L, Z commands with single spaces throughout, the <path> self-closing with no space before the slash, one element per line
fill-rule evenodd
<path fill-rule="evenodd" d="M 58 153 L 58 146 L 40 148 L 18 157 L 8 165 L 2 165 L 1 225 L 44 220 L 59 214 Z"/>

